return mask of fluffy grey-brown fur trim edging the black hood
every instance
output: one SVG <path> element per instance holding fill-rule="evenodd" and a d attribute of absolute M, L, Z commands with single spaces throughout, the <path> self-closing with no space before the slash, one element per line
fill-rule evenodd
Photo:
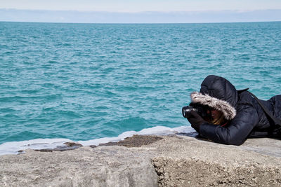
<path fill-rule="evenodd" d="M 227 120 L 232 120 L 236 116 L 235 108 L 226 101 L 209 95 L 202 95 L 200 92 L 192 92 L 190 97 L 193 103 L 200 103 L 221 111 Z"/>

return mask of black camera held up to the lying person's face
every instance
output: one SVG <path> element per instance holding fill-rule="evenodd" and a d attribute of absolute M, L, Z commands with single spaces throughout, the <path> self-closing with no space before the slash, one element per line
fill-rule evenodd
<path fill-rule="evenodd" d="M 189 118 L 191 115 L 191 111 L 196 111 L 202 118 L 209 118 L 211 113 L 209 111 L 209 106 L 204 106 L 199 103 L 190 103 L 189 106 L 183 106 L 181 110 L 184 118 Z"/>

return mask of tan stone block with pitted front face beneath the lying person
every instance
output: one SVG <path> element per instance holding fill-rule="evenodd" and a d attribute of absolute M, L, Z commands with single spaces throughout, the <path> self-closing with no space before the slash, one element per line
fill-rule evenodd
<path fill-rule="evenodd" d="M 243 146 L 225 146 L 200 141 L 197 147 L 193 141 L 176 142 L 181 145 L 176 149 L 188 148 L 176 154 L 163 151 L 152 160 L 159 186 L 281 186 L 281 151 L 276 152 L 281 142 L 249 139 Z M 273 150 L 264 150 L 263 143 L 273 142 Z"/>

